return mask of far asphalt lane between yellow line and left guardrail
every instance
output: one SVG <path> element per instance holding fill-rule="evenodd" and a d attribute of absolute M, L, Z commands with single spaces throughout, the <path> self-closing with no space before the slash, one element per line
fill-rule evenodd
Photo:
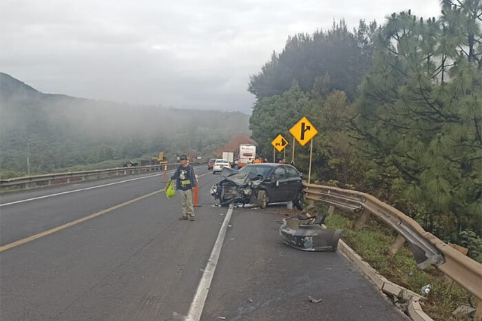
<path fill-rule="evenodd" d="M 198 174 L 207 172 L 205 166 L 197 169 Z M 163 189 L 162 180 L 162 172 L 151 172 L 3 194 L 0 246 Z M 9 205 L 15 202 L 23 203 Z"/>

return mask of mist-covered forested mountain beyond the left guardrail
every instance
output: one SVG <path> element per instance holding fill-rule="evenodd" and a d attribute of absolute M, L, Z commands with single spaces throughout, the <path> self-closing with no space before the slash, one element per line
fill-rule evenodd
<path fill-rule="evenodd" d="M 0 171 L 51 172 L 160 151 L 209 155 L 234 134 L 249 135 L 249 115 L 125 105 L 43 94 L 0 73 Z"/>

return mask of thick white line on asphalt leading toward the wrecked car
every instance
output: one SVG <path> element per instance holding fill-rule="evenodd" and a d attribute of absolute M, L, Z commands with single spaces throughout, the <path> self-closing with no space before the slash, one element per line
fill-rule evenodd
<path fill-rule="evenodd" d="M 218 258 L 221 253 L 222 242 L 224 241 L 224 236 L 226 236 L 226 230 L 228 228 L 232 213 L 233 208 L 229 207 L 228 212 L 224 217 L 224 221 L 222 222 L 221 229 L 219 230 L 216 243 L 214 243 L 213 251 L 211 251 L 211 256 L 209 256 L 205 270 L 202 273 L 202 278 L 199 281 L 196 295 L 193 298 L 191 307 L 189 307 L 186 320 L 198 321 L 201 318 L 202 309 L 205 307 L 207 293 L 209 292 L 209 287 L 211 287 L 211 281 L 213 280 L 214 271 L 216 271 L 216 265 L 218 265 Z"/>

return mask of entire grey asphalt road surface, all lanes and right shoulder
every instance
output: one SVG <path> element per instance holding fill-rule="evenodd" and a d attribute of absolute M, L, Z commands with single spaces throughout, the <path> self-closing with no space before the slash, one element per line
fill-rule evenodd
<path fill-rule="evenodd" d="M 194 222 L 155 172 L 2 195 L 0 320 L 182 320 L 227 214 L 196 172 Z M 201 320 L 408 320 L 341 254 L 284 245 L 287 211 L 233 210 Z"/>

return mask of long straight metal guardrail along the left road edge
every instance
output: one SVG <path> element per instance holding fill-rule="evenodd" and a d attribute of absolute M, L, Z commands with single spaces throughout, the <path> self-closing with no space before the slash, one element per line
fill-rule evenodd
<path fill-rule="evenodd" d="M 196 163 L 191 163 L 196 164 Z M 177 167 L 179 163 L 168 164 L 167 167 Z M 151 171 L 161 171 L 165 165 L 148 165 L 148 166 L 134 166 L 134 167 L 117 167 L 109 169 L 96 169 L 92 171 L 82 172 L 67 172 L 58 174 L 44 174 L 36 176 L 24 176 L 17 178 L 10 178 L 6 180 L 0 180 L 0 189 L 5 187 L 21 186 L 25 185 L 25 188 L 35 187 L 38 184 L 43 186 L 61 185 L 74 183 L 87 178 L 107 178 L 112 176 L 123 176 L 131 174 L 139 174 Z M 42 184 L 43 183 L 43 184 Z"/>

